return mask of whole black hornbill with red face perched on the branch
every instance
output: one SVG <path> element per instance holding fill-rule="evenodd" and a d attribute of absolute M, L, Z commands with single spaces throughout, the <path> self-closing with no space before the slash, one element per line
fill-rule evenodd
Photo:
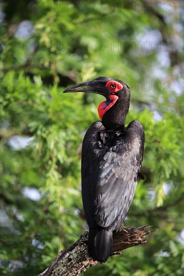
<path fill-rule="evenodd" d="M 88 128 L 82 144 L 82 201 L 89 225 L 88 254 L 106 262 L 112 233 L 122 225 L 132 203 L 144 151 L 144 128 L 138 120 L 125 127 L 130 89 L 121 80 L 98 77 L 64 92 L 89 92 L 106 97 L 98 112 L 102 121 Z"/>

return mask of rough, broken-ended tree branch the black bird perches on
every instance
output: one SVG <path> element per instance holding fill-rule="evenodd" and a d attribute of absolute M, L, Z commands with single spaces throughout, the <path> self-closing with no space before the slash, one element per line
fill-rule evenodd
<path fill-rule="evenodd" d="M 156 230 L 148 231 L 149 227 L 151 226 L 144 225 L 138 228 L 128 226 L 114 232 L 111 255 L 121 254 L 121 250 L 145 243 L 147 241 L 145 235 L 149 235 Z M 89 267 L 95 266 L 98 261 L 94 261 L 88 256 L 87 240 L 88 232 L 86 231 L 69 248 L 60 251 L 55 260 L 39 276 L 76 276 Z"/>

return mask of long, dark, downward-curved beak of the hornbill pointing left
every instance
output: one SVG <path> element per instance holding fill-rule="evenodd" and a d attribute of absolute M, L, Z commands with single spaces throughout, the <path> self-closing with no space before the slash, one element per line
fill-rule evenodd
<path fill-rule="evenodd" d="M 108 97 L 110 94 L 105 84 L 101 83 L 96 79 L 72 85 L 63 91 L 63 93 L 70 93 L 70 92 L 96 93 L 96 94 L 103 95 L 105 97 Z"/>

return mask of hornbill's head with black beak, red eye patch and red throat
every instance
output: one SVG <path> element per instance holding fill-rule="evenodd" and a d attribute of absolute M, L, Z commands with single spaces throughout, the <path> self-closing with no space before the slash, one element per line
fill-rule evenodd
<path fill-rule="evenodd" d="M 75 84 L 64 90 L 64 93 L 67 92 L 88 92 L 105 96 L 106 101 L 101 102 L 98 107 L 101 119 L 119 98 L 123 99 L 128 96 L 128 106 L 130 101 L 130 89 L 128 85 L 121 80 L 107 77 L 98 77 L 94 80 Z"/>

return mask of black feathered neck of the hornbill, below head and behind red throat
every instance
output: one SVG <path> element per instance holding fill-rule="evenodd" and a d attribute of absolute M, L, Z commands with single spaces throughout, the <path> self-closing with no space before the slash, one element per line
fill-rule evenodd
<path fill-rule="evenodd" d="M 117 97 L 117 96 L 116 96 Z M 118 97 L 114 100 L 112 106 L 105 112 L 102 117 L 102 123 L 107 130 L 122 127 L 125 128 L 125 119 L 129 110 L 130 94 L 124 95 L 123 98 Z"/>

